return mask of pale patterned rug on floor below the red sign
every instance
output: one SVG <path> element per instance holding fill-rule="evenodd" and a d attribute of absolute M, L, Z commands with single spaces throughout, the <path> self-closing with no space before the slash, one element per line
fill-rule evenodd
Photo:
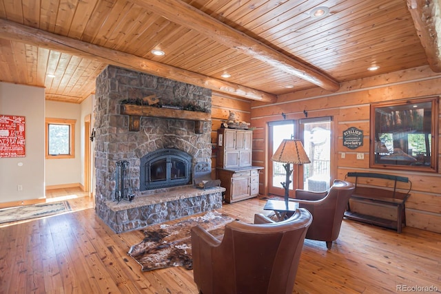
<path fill-rule="evenodd" d="M 70 205 L 67 201 L 3 208 L 0 209 L 0 224 L 5 222 L 17 222 L 18 220 L 41 218 L 43 216 L 52 216 L 70 210 Z"/>

